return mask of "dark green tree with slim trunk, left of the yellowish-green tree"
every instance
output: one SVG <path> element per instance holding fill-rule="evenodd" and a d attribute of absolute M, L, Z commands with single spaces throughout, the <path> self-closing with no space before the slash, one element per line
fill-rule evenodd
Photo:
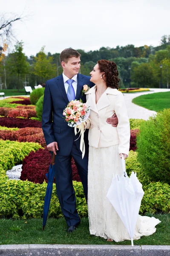
<path fill-rule="evenodd" d="M 29 73 L 29 63 L 23 53 L 23 42 L 15 45 L 15 51 L 9 55 L 8 68 L 12 74 L 17 73 L 18 92 L 20 89 L 20 76 Z"/>

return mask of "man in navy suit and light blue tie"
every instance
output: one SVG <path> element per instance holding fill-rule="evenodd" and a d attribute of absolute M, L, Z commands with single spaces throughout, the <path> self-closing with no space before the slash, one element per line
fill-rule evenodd
<path fill-rule="evenodd" d="M 84 133 L 86 153 L 82 159 L 79 135 L 75 136 L 74 128 L 69 127 L 63 119 L 63 109 L 69 101 L 82 99 L 86 102 L 86 96 L 84 94 L 82 96 L 83 85 L 94 86 L 89 76 L 78 73 L 80 56 L 80 53 L 72 48 L 61 52 L 60 63 L 63 73 L 46 82 L 42 114 L 42 128 L 47 148 L 55 154 L 57 151 L 55 157 L 56 192 L 68 225 L 68 233 L 74 231 L 80 224 L 72 185 L 72 157 L 75 160 L 87 201 L 88 131 Z M 107 122 L 112 126 L 117 126 L 118 119 L 117 117 L 109 118 Z"/>

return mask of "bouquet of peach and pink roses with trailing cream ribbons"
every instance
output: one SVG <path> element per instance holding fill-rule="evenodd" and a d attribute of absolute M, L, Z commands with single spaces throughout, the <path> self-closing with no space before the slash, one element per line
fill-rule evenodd
<path fill-rule="evenodd" d="M 82 158 L 85 154 L 85 145 L 84 145 L 84 131 L 85 131 L 85 122 L 87 122 L 87 119 L 89 117 L 90 108 L 86 105 L 86 103 L 83 103 L 82 100 L 72 100 L 68 103 L 66 108 L 63 110 L 63 118 L 66 122 L 68 122 L 68 125 L 70 127 L 75 128 L 75 135 L 80 132 L 81 137 L 81 143 L 80 143 L 80 149 L 82 152 Z M 78 131 L 77 131 L 78 128 Z"/>

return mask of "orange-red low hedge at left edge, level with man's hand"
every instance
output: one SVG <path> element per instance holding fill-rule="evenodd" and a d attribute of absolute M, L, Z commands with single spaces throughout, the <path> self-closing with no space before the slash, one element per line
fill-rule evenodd
<path fill-rule="evenodd" d="M 46 146 L 46 142 L 43 136 L 43 130 L 41 128 L 26 127 L 17 129 L 17 131 L 3 131 L 0 129 L 0 139 L 17 140 L 19 142 L 35 142 L 39 143 L 42 147 Z"/>

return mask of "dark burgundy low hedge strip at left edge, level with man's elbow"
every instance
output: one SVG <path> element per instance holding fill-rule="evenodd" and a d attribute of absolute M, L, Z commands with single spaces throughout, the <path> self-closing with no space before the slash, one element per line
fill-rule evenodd
<path fill-rule="evenodd" d="M 17 127 L 39 127 L 41 128 L 41 122 L 32 119 L 21 119 L 14 117 L 0 117 L 0 126 L 5 126 L 8 128 Z"/>

